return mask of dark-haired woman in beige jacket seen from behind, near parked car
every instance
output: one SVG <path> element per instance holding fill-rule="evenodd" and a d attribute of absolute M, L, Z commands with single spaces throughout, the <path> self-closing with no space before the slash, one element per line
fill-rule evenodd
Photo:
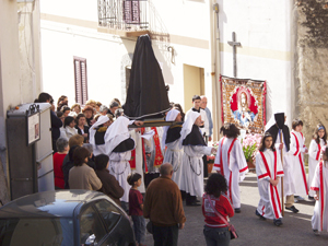
<path fill-rule="evenodd" d="M 86 165 L 90 153 L 83 147 L 77 147 L 73 153 L 74 166 L 70 169 L 70 189 L 99 190 L 103 186 L 94 169 Z"/>

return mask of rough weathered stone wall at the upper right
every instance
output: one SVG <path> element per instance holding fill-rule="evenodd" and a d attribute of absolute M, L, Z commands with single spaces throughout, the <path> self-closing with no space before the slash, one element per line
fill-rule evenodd
<path fill-rule="evenodd" d="M 318 122 L 328 127 L 328 0 L 295 1 L 295 113 L 308 147 Z"/>

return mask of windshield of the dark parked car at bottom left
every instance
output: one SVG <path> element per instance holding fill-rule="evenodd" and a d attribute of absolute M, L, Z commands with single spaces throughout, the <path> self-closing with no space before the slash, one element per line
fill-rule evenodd
<path fill-rule="evenodd" d="M 0 246 L 74 245 L 72 219 L 0 219 Z"/>

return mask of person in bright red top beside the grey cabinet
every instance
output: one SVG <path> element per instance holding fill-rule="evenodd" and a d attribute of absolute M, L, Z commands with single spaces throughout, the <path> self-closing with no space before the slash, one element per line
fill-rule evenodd
<path fill-rule="evenodd" d="M 56 141 L 57 151 L 54 155 L 54 175 L 55 175 L 55 189 L 63 189 L 63 172 L 62 172 L 62 162 L 67 153 L 70 150 L 68 140 L 65 138 L 59 138 Z"/>

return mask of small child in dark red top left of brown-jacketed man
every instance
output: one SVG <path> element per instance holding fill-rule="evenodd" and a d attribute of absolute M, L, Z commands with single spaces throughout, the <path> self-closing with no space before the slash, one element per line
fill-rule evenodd
<path fill-rule="evenodd" d="M 138 190 L 138 187 L 141 185 L 141 175 L 138 173 L 130 174 L 127 180 L 128 184 L 132 186 L 129 192 L 129 215 L 131 215 L 133 221 L 136 241 L 139 246 L 142 246 L 145 233 L 145 222 L 142 212 L 143 197 Z"/>

